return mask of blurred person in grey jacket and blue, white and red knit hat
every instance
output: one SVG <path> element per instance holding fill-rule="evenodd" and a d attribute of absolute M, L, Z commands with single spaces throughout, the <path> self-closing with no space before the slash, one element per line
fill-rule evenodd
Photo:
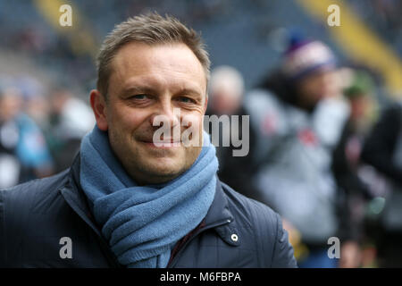
<path fill-rule="evenodd" d="M 292 38 L 280 67 L 245 101 L 259 135 L 254 198 L 282 215 L 300 267 L 336 267 L 328 240 L 337 236 L 342 247 L 351 241 L 339 214 L 344 196 L 331 172 L 349 114 L 341 88 L 331 49 Z"/>

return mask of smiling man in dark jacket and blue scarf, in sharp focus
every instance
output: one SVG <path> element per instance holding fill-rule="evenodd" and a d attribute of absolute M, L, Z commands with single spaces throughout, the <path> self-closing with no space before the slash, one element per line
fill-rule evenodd
<path fill-rule="evenodd" d="M 0 192 L 0 266 L 295 267 L 280 216 L 216 176 L 209 65 L 172 17 L 117 25 L 90 93 L 96 126 L 71 168 Z"/>

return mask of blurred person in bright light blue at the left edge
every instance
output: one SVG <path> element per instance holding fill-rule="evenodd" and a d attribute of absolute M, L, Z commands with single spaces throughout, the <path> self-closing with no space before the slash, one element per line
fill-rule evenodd
<path fill-rule="evenodd" d="M 46 139 L 23 113 L 21 90 L 10 84 L 0 90 L 0 156 L 2 188 L 53 173 Z"/>

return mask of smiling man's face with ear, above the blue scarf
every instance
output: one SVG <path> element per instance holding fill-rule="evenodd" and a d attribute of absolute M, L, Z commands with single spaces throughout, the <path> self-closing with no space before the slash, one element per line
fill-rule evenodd
<path fill-rule="evenodd" d="M 205 71 L 184 44 L 122 46 L 113 59 L 108 99 L 93 90 L 91 105 L 99 129 L 108 130 L 115 155 L 139 184 L 171 181 L 185 172 L 201 151 Z M 180 115 L 173 113 L 174 108 L 180 108 Z M 180 132 L 196 128 L 197 146 L 155 146 L 154 132 L 161 126 L 153 125 L 161 116 L 171 123 L 172 130 L 187 119 L 189 125 L 180 126 Z"/>

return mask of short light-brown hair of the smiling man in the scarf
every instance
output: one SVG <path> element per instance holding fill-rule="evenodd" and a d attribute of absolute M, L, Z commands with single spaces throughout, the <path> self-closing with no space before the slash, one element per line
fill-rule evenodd
<path fill-rule="evenodd" d="M 121 46 L 130 42 L 148 45 L 185 44 L 197 56 L 205 70 L 206 80 L 209 80 L 211 62 L 200 35 L 170 15 L 163 17 L 158 13 L 147 13 L 129 18 L 116 25 L 106 36 L 100 48 L 96 59 L 96 88 L 105 98 L 107 98 L 109 78 L 112 72 L 112 60 Z"/>

